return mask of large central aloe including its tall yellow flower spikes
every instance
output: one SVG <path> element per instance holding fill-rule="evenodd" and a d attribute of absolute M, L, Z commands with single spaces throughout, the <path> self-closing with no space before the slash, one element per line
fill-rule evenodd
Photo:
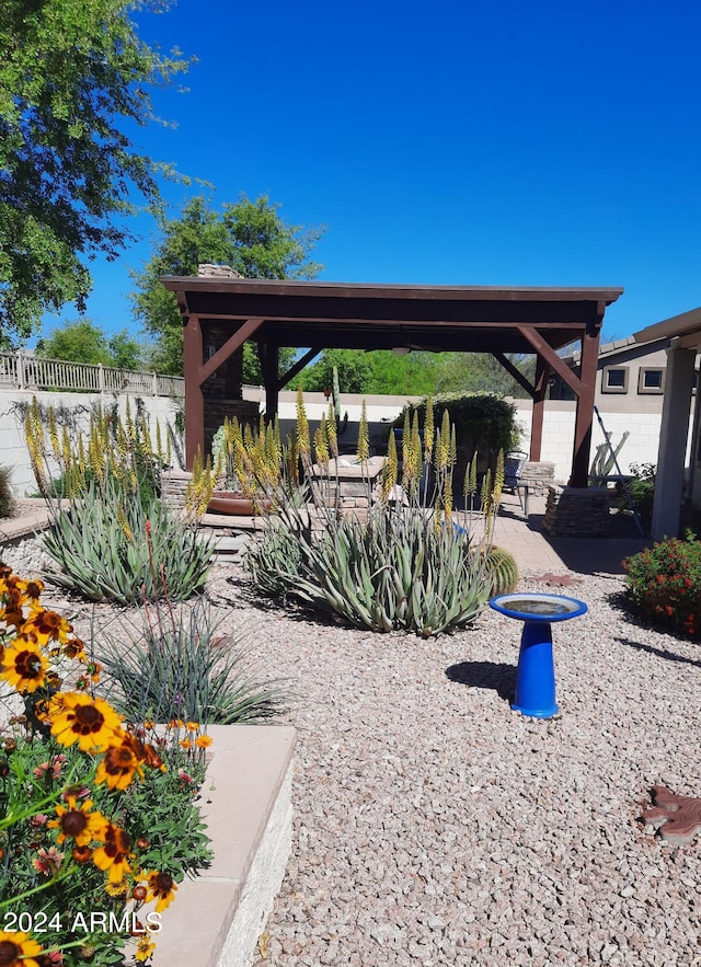
<path fill-rule="evenodd" d="M 299 404 L 298 404 L 299 406 Z M 303 413 L 302 413 L 303 416 Z M 402 629 L 424 637 L 469 624 L 492 589 L 492 520 L 498 507 L 503 469 L 476 494 L 476 464 L 466 474 L 466 508 L 455 510 L 455 430 L 447 414 L 435 427 L 433 407 L 424 426 L 405 416 L 401 472 L 393 436 L 376 493 L 367 494 L 367 518 L 342 513 L 337 469 L 330 465 L 331 441 L 322 421 L 314 438 L 315 463 L 306 419 L 298 418 L 298 448 L 310 505 L 284 505 L 248 565 L 260 590 L 294 598 L 345 623 L 372 631 Z M 301 426 L 301 431 L 299 427 Z M 367 464 L 367 419 L 358 430 L 358 462 Z M 475 458 L 476 459 L 476 458 Z M 336 464 L 337 468 L 337 464 Z M 401 482 L 400 482 L 401 481 Z M 474 538 L 475 515 L 484 522 Z"/>

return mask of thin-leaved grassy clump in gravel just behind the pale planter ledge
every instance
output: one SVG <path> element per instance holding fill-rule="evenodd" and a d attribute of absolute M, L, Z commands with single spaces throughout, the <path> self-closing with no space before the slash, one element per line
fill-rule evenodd
<path fill-rule="evenodd" d="M 189 614 L 149 609 L 143 634 L 108 638 L 99 657 L 118 691 L 110 699 L 130 722 L 181 718 L 217 725 L 255 723 L 283 711 L 279 682 L 261 679 L 232 635 L 218 635 L 211 608 Z"/>

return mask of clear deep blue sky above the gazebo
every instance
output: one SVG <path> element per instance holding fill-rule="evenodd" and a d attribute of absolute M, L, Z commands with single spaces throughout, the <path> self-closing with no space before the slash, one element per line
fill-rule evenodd
<path fill-rule="evenodd" d="M 135 141 L 326 226 L 330 281 L 622 286 L 607 337 L 701 304 L 696 0 L 180 0 L 140 34 L 198 62 Z M 196 187 L 165 186 L 176 215 Z M 138 331 L 129 267 L 88 315 Z M 76 318 L 67 309 L 64 319 Z M 47 318 L 45 331 L 56 324 Z"/>

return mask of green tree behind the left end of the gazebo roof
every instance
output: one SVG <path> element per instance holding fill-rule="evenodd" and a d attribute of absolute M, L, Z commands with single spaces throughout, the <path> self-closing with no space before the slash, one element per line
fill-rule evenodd
<path fill-rule="evenodd" d="M 163 225 L 163 239 L 140 272 L 131 293 L 135 318 L 154 338 L 152 365 L 159 372 L 183 373 L 183 324 L 174 292 L 161 285 L 164 275 L 197 275 L 203 263 L 225 264 L 246 278 L 315 278 L 323 268 L 309 255 L 322 228 L 287 225 L 279 204 L 266 195 L 251 202 L 241 195 L 212 211 L 203 196 L 187 203 L 180 218 Z M 295 350 L 280 350 L 280 362 Z M 286 368 L 284 366 L 283 368 Z M 263 378 L 252 346 L 244 346 L 244 381 Z"/>

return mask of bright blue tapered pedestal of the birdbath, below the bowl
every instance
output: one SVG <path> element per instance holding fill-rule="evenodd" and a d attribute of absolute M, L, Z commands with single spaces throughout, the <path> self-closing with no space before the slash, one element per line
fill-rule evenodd
<path fill-rule="evenodd" d="M 512 709 L 532 718 L 550 718 L 560 711 L 555 701 L 555 665 L 549 622 L 526 621 L 524 624 Z"/>

